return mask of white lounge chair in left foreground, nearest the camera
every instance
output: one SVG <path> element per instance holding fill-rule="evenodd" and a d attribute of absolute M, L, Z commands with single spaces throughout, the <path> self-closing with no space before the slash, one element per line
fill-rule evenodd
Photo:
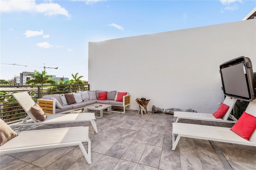
<path fill-rule="evenodd" d="M 91 161 L 91 141 L 88 127 L 55 128 L 18 132 L 18 136 L 0 146 L 0 154 L 10 154 L 32 150 L 79 146 L 88 164 Z M 82 142 L 88 142 L 86 152 Z"/>

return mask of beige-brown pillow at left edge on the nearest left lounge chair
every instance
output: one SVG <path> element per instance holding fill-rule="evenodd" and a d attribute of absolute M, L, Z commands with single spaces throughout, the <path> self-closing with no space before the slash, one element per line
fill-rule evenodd
<path fill-rule="evenodd" d="M 0 119 L 0 146 L 15 136 L 18 136 L 18 134 L 14 132 L 2 119 Z"/>

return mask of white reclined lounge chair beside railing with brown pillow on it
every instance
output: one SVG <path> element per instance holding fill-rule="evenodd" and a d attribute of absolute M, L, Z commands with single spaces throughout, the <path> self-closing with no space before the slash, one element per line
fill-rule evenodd
<path fill-rule="evenodd" d="M 20 103 L 24 111 L 28 114 L 28 116 L 25 119 L 23 119 L 20 123 L 11 125 L 10 127 L 12 129 L 20 127 L 19 130 L 22 130 L 22 128 L 26 126 L 52 125 L 59 123 L 75 123 L 90 121 L 95 132 L 98 133 L 94 113 L 70 113 L 59 115 L 48 114 L 45 121 L 42 122 L 38 121 L 32 115 L 30 108 L 35 105 L 35 102 L 27 92 L 14 93 L 12 95 L 18 101 L 18 103 Z"/>

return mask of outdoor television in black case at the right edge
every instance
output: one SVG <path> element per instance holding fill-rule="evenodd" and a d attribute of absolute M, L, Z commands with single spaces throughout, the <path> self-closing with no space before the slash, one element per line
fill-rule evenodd
<path fill-rule="evenodd" d="M 238 57 L 220 65 L 224 95 L 242 101 L 256 99 L 256 83 L 252 62 L 248 57 Z"/>

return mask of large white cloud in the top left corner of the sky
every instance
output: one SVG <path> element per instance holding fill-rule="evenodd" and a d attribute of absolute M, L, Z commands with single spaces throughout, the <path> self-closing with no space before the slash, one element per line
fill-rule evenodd
<path fill-rule="evenodd" d="M 70 17 L 68 11 L 56 3 L 36 4 L 35 0 L 1 0 L 1 12 L 38 12 L 44 16 L 64 15 Z"/>

